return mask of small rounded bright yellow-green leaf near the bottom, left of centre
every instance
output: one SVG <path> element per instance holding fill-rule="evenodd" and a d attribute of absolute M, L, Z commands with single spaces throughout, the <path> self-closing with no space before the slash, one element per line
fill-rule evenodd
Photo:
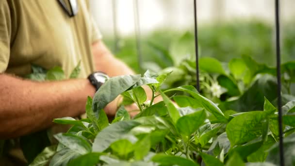
<path fill-rule="evenodd" d="M 134 145 L 127 139 L 121 139 L 113 142 L 110 146 L 113 152 L 119 157 L 127 156 L 134 150 Z M 124 158 L 123 158 L 124 159 Z"/>

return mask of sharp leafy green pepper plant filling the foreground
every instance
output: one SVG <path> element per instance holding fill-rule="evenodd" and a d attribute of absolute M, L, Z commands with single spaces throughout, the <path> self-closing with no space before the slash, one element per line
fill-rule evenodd
<path fill-rule="evenodd" d="M 54 137 L 58 146 L 43 150 L 31 166 L 275 166 L 279 164 L 277 109 L 266 98 L 263 110 L 236 113 L 220 109 L 194 86 L 161 91 L 169 74 L 147 71 L 106 81 L 86 103 L 87 118 L 54 119 L 72 125 Z M 152 90 L 152 99 L 142 85 Z M 168 92 L 184 92 L 173 96 Z M 110 123 L 103 108 L 117 96 L 135 102 L 140 113 L 130 117 L 123 106 Z M 162 96 L 163 101 L 153 103 Z M 295 102 L 282 107 L 286 165 L 294 165 Z"/>

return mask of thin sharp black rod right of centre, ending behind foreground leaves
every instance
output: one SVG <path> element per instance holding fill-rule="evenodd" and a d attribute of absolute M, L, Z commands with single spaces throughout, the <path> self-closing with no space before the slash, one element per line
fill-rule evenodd
<path fill-rule="evenodd" d="M 194 18 L 195 18 L 195 48 L 196 48 L 197 90 L 200 91 L 199 56 L 198 56 L 198 41 L 197 41 L 197 0 L 194 0 Z"/>

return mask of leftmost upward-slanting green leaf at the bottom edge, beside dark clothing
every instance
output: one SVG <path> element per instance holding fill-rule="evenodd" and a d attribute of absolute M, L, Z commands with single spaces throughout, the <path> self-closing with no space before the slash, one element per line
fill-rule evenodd
<path fill-rule="evenodd" d="M 49 163 L 49 160 L 56 152 L 56 145 L 46 147 L 29 166 L 46 166 Z"/>

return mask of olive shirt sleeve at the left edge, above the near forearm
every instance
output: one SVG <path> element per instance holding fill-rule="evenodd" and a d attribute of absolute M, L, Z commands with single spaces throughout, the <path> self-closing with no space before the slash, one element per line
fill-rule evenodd
<path fill-rule="evenodd" d="M 11 17 L 7 0 L 0 0 L 0 73 L 8 66 L 10 56 Z"/>

